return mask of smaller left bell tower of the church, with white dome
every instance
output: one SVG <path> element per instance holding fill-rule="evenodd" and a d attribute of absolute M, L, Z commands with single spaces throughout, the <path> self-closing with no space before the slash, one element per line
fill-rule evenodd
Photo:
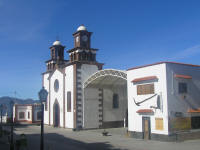
<path fill-rule="evenodd" d="M 51 59 L 46 61 L 47 71 L 52 71 L 56 67 L 62 67 L 65 64 L 64 49 L 65 46 L 62 46 L 59 40 L 53 43 L 50 47 Z"/>

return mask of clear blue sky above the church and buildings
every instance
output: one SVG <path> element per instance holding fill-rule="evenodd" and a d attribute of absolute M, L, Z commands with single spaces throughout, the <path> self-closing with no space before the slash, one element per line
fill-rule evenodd
<path fill-rule="evenodd" d="M 80 24 L 104 68 L 200 64 L 199 0 L 0 0 L 0 96 L 37 99 L 49 47 Z M 66 53 L 65 58 L 68 59 Z"/>

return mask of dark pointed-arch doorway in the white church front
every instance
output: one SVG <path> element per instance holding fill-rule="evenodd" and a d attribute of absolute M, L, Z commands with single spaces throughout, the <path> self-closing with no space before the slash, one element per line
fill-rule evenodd
<path fill-rule="evenodd" d="M 53 105 L 53 125 L 54 127 L 60 126 L 60 106 L 57 99 Z"/>

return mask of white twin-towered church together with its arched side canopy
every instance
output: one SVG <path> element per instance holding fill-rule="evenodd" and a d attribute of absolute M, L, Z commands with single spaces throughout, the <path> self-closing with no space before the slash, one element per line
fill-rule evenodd
<path fill-rule="evenodd" d="M 65 46 L 60 41 L 50 47 L 51 58 L 42 74 L 48 91 L 45 124 L 71 129 L 124 125 L 126 73 L 102 70 L 103 63 L 96 60 L 98 49 L 91 47 L 91 36 L 85 26 L 78 27 L 73 34 L 74 48 L 67 50 L 69 60 L 64 59 Z"/>

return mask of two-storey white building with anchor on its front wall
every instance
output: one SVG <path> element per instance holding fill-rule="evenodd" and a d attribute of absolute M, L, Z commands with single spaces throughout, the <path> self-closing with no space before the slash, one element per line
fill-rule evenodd
<path fill-rule="evenodd" d="M 159 62 L 127 70 L 128 130 L 141 139 L 173 140 L 200 128 L 200 66 Z"/>

